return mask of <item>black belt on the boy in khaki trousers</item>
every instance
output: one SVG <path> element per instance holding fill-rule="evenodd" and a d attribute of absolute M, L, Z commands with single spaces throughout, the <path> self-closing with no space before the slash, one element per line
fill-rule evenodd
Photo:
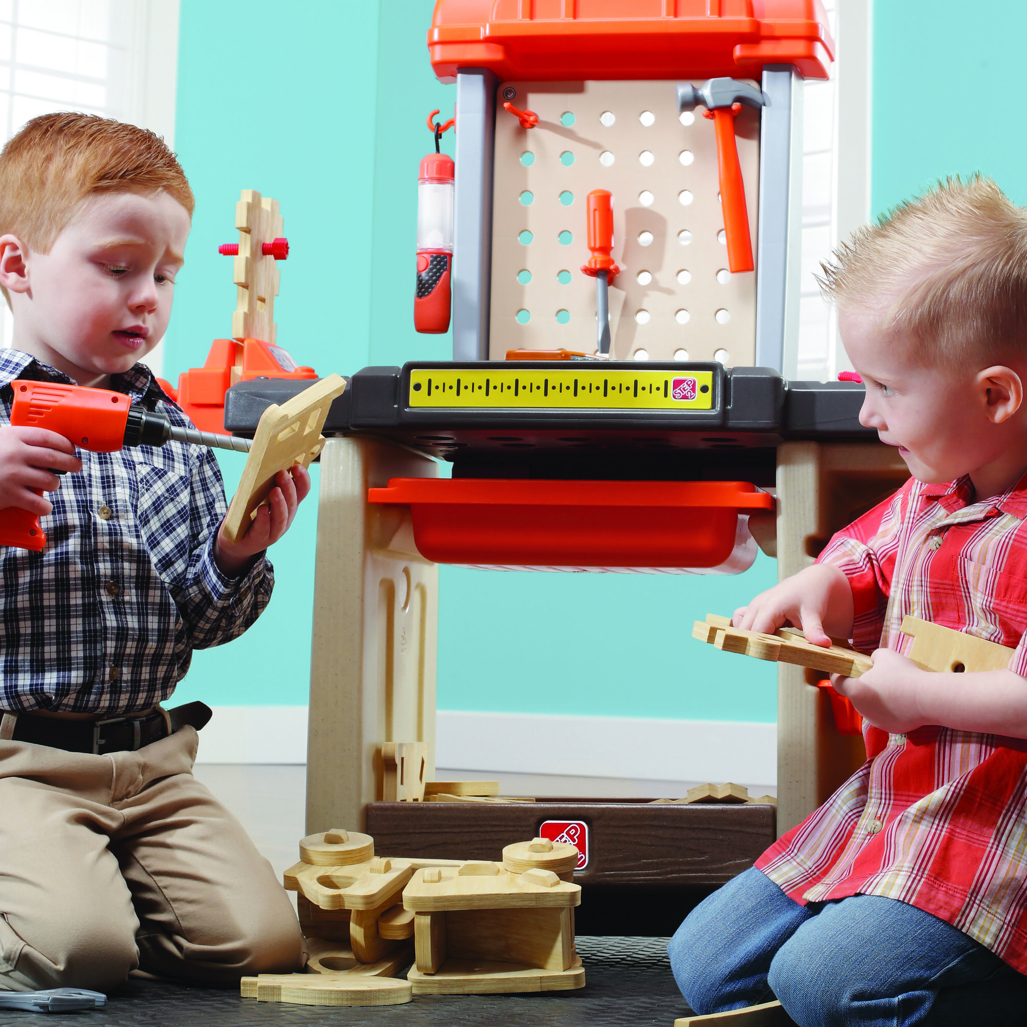
<path fill-rule="evenodd" d="M 186 702 L 145 717 L 107 717 L 103 720 L 63 720 L 60 717 L 35 717 L 20 713 L 14 722 L 12 741 L 64 749 L 69 753 L 134 753 L 158 741 L 180 727 L 190 725 L 198 731 L 212 716 L 205 702 Z M 167 725 L 170 721 L 170 732 Z"/>

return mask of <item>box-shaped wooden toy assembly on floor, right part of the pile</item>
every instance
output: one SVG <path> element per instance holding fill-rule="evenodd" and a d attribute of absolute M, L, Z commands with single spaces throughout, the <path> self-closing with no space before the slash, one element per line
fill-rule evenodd
<path fill-rule="evenodd" d="M 417 871 L 403 896 L 414 913 L 416 963 L 408 974 L 414 993 L 583 987 L 574 951 L 573 908 L 580 901 L 580 887 L 551 870 L 511 873 L 476 860 Z"/>

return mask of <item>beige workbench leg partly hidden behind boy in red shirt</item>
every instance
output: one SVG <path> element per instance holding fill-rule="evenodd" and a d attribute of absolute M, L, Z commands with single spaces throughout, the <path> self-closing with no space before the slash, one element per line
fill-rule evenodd
<path fill-rule="evenodd" d="M 777 449 L 777 578 L 808 567 L 839 528 L 909 477 L 881 443 L 785 443 Z M 859 735 L 835 730 L 815 672 L 777 669 L 777 833 L 808 816 L 866 758 Z"/>

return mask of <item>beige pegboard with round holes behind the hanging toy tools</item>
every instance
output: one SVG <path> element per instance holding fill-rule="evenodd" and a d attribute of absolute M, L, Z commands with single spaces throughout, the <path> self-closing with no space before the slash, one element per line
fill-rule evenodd
<path fill-rule="evenodd" d="M 609 189 L 620 267 L 610 287 L 611 355 L 754 363 L 756 273 L 727 271 L 713 121 L 701 109 L 679 116 L 677 84 L 500 84 L 490 359 L 518 348 L 595 352 L 596 280 L 580 270 L 586 196 Z M 534 111 L 538 125 L 522 128 L 507 100 Z M 759 126 L 760 112 L 744 105 L 735 135 L 754 253 Z"/>

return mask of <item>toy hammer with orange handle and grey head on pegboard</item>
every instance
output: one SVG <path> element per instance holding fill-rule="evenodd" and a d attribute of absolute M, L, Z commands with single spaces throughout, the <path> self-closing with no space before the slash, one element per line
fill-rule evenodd
<path fill-rule="evenodd" d="M 717 130 L 717 163 L 720 170 L 720 204 L 727 236 L 727 266 L 731 273 L 753 270 L 753 242 L 746 210 L 746 185 L 741 180 L 738 147 L 734 140 L 734 117 L 743 104 L 763 106 L 763 93 L 748 82 L 733 78 L 711 78 L 699 88 L 690 82 L 678 86 L 678 110 L 706 108 Z"/>

